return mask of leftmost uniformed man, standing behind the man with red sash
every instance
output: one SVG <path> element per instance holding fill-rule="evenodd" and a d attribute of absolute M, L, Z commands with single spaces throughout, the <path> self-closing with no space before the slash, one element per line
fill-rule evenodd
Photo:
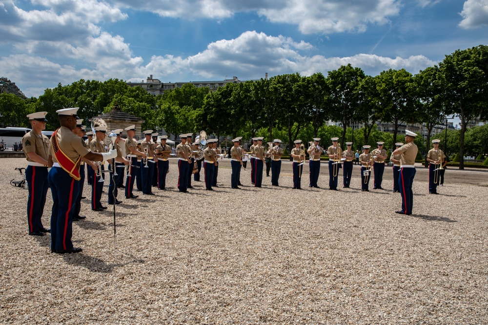
<path fill-rule="evenodd" d="M 49 157 L 49 138 L 42 134 L 46 128 L 47 112 L 27 115 L 32 130 L 22 137 L 22 148 L 27 159 L 25 180 L 29 195 L 27 196 L 27 225 L 29 235 L 44 236 L 50 229 L 42 226 L 42 213 L 46 203 L 47 159 Z"/>

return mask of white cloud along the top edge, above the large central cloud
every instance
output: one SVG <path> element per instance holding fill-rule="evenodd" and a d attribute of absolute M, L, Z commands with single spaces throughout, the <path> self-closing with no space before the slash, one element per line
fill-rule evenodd
<path fill-rule="evenodd" d="M 298 25 L 304 34 L 364 32 L 367 25 L 385 24 L 387 17 L 400 11 L 399 0 L 117 0 L 115 3 L 182 19 L 225 19 L 238 12 L 256 12 L 271 22 Z"/>

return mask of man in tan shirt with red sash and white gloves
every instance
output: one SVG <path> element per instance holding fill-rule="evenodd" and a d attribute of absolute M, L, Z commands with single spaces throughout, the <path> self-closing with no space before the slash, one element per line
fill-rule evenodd
<path fill-rule="evenodd" d="M 53 209 L 51 214 L 51 252 L 77 253 L 81 248 L 73 248 L 72 209 L 78 194 L 80 181 L 79 164 L 81 156 L 91 161 L 102 161 L 117 155 L 115 150 L 110 153 L 90 152 L 84 141 L 72 130 L 76 127 L 76 112 L 78 108 L 67 108 L 57 111 L 61 127 L 57 129 L 50 140 L 48 166 L 52 166 L 48 173 L 49 186 L 53 195 Z"/>

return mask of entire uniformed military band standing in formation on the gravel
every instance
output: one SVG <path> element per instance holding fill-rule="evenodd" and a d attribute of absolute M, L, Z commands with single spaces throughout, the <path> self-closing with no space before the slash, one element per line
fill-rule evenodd
<path fill-rule="evenodd" d="M 61 127 L 57 129 L 51 139 L 41 133 L 46 127 L 46 112 L 27 115 L 32 131 L 22 138 L 24 153 L 27 159 L 25 170 L 28 184 L 27 221 L 29 235 L 43 236 L 51 233 L 51 252 L 76 253 L 81 248 L 74 248 L 71 242 L 72 222 L 84 219 L 80 215 L 83 185 L 86 176 L 87 183 L 91 185 L 91 209 L 102 211 L 107 209 L 102 204 L 102 191 L 104 184 L 105 167 L 108 162 L 109 205 L 122 203 L 118 198 L 118 188 L 124 188 L 126 199 L 137 199 L 134 195 L 134 184 L 145 195 L 154 195 L 152 188 L 166 190 L 166 175 L 169 172 L 170 157 L 178 158 L 178 191 L 186 193 L 193 189 L 191 179 L 200 181 L 200 172 L 203 166 L 205 190 L 214 191 L 217 187 L 219 173 L 219 158 L 224 156 L 217 148 L 217 139 L 207 139 L 204 131 L 192 141 L 192 134 L 181 134 L 181 143 L 176 147 L 175 153 L 166 144 L 167 136 L 159 136 L 152 130 L 144 131 L 144 139 L 137 141 L 135 125 L 125 129 L 112 131 L 110 147 L 105 149 L 105 136 L 107 126 L 100 118 L 92 121 L 91 132 L 81 125 L 82 120 L 77 116 L 78 108 L 58 110 Z M 122 132 L 127 133 L 127 139 L 122 139 Z M 85 141 L 82 137 L 87 136 Z M 412 214 L 413 192 L 412 184 L 415 177 L 415 157 L 418 148 L 414 144 L 417 134 L 406 131 L 405 144 L 396 143 L 396 150 L 391 154 L 393 163 L 393 192 L 399 192 L 402 197 L 401 209 L 395 211 L 399 214 Z M 241 168 L 246 168 L 247 162 L 251 165 L 251 184 L 260 188 L 263 181 L 264 166 L 271 169 L 271 185 L 279 186 L 282 167 L 283 149 L 282 141 L 274 139 L 268 143 L 268 149 L 263 146 L 263 137 L 252 139 L 253 144 L 249 151 L 244 151 L 241 145 L 242 137 L 232 139 L 230 149 L 231 160 L 231 187 L 240 189 Z M 295 140 L 295 148 L 291 150 L 293 159 L 293 188 L 302 189 L 302 172 L 306 163 L 306 154 L 309 155 L 309 185 L 319 188 L 318 178 L 321 167 L 320 156 L 326 152 L 329 156 L 329 189 L 338 191 L 340 170 L 343 172 L 343 188 L 349 188 L 354 160 L 361 165 L 361 190 L 369 191 L 369 180 L 374 177 L 373 189 L 383 189 L 382 180 L 385 171 L 386 150 L 383 142 L 377 142 L 378 148 L 370 152 L 370 146 L 363 146 L 364 152 L 359 155 L 351 150 L 352 142 L 346 142 L 346 150 L 338 144 L 339 138 L 331 138 L 332 145 L 327 149 L 320 146 L 320 138 L 309 142 L 305 150 L 302 140 Z M 444 167 L 446 156 L 439 149 L 440 140 L 432 140 L 433 149 L 427 153 L 429 162 L 429 193 L 437 194 L 437 187 Z M 269 164 L 266 164 L 266 158 Z M 84 165 L 86 164 L 86 173 Z M 269 166 L 268 166 L 269 165 Z M 123 177 L 126 175 L 125 185 Z M 51 212 L 51 229 L 43 227 L 41 216 L 46 202 L 48 187 L 51 188 L 53 207 Z M 115 211 L 115 209 L 114 209 Z M 114 212 L 115 213 L 115 212 Z M 115 227 L 115 214 L 114 214 Z M 114 228 L 115 231 L 115 228 Z"/>

